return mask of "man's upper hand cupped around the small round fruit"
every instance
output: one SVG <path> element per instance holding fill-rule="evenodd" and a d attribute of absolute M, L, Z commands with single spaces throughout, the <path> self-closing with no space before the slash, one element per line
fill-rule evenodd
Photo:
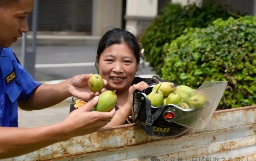
<path fill-rule="evenodd" d="M 88 80 L 92 76 L 92 74 L 81 74 L 74 76 L 69 85 L 68 92 L 70 95 L 75 96 L 76 98 L 89 101 L 93 97 L 100 95 L 99 92 L 96 92 L 95 94 L 90 91 L 88 87 Z M 107 81 L 103 79 L 104 81 L 104 86 L 107 85 Z M 101 93 L 103 91 L 106 91 L 105 88 L 102 89 Z"/>

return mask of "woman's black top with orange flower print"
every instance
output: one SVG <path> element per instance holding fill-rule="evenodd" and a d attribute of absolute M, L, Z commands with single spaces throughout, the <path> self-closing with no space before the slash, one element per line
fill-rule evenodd
<path fill-rule="evenodd" d="M 140 78 L 140 77 L 134 77 L 133 82 L 131 83 L 132 85 L 135 85 L 139 82 L 144 81 L 145 83 L 147 83 L 148 85 L 153 84 L 153 83 L 158 83 L 160 82 L 168 82 L 166 80 L 160 79 L 158 76 L 153 76 L 152 78 Z M 69 113 L 72 112 L 73 110 L 83 106 L 84 104 L 86 104 L 86 102 L 84 102 L 83 100 L 80 100 L 76 97 L 72 97 L 71 103 L 70 103 L 70 110 Z M 118 110 L 119 107 L 117 105 L 115 105 L 115 109 Z M 126 119 L 124 124 L 132 124 L 134 123 L 133 120 L 131 119 L 131 115 Z"/>

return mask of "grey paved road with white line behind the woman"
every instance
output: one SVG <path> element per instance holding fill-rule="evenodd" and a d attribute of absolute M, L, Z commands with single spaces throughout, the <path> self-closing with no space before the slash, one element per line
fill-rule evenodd
<path fill-rule="evenodd" d="M 21 47 L 13 46 L 13 51 L 21 60 Z M 30 48 L 28 47 L 28 50 Z M 97 70 L 93 66 L 96 55 L 96 44 L 87 46 L 38 46 L 36 53 L 36 64 L 39 67 L 35 70 L 35 80 L 48 81 L 58 79 L 68 79 L 77 74 L 96 73 Z M 80 67 L 54 67 L 54 64 L 60 63 L 83 63 Z M 90 64 L 91 63 L 91 64 Z M 41 64 L 41 65 L 39 65 Z M 42 64 L 51 64 L 46 67 Z M 151 68 L 142 69 L 137 72 L 138 75 L 152 74 Z"/>

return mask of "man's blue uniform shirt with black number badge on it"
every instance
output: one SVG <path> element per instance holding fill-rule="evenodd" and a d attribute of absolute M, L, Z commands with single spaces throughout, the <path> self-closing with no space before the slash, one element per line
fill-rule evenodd
<path fill-rule="evenodd" d="M 0 126 L 18 127 L 18 102 L 41 85 L 18 63 L 9 48 L 0 48 Z"/>

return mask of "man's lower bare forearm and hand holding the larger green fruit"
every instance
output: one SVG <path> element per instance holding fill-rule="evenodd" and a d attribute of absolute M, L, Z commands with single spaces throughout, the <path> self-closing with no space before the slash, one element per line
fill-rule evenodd
<path fill-rule="evenodd" d="M 89 112 L 97 102 L 98 96 L 57 124 L 33 128 L 0 127 L 0 159 L 17 157 L 99 130 L 111 121 L 116 110 Z"/>

